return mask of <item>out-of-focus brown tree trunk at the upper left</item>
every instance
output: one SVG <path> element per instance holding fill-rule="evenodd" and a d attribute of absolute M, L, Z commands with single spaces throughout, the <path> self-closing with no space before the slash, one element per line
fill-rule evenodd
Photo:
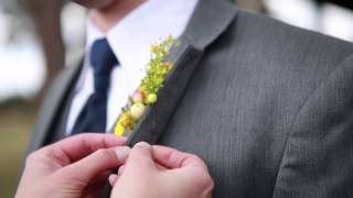
<path fill-rule="evenodd" d="M 33 31 L 41 42 L 45 57 L 46 90 L 65 63 L 65 47 L 61 30 L 61 10 L 65 0 L 0 0 L 1 10 L 11 19 L 8 42 L 20 38 L 23 32 Z"/>

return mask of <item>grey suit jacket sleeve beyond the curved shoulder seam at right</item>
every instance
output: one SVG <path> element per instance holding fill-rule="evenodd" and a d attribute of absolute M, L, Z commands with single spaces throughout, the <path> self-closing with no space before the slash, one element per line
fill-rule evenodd
<path fill-rule="evenodd" d="M 299 111 L 272 197 L 353 197 L 353 54 Z"/>

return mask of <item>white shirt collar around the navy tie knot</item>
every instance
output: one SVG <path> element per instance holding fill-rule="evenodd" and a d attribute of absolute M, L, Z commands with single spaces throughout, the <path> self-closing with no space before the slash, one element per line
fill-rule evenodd
<path fill-rule="evenodd" d="M 106 35 L 89 20 L 86 50 L 107 37 L 122 67 L 141 70 L 150 59 L 150 45 L 168 35 L 181 36 L 199 0 L 147 0 L 119 21 Z"/>

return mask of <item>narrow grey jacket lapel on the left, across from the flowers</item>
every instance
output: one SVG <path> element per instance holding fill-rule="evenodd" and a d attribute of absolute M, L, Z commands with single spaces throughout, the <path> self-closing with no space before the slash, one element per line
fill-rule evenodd
<path fill-rule="evenodd" d="M 72 90 L 81 68 L 82 64 L 65 68 L 55 78 L 39 111 L 29 152 L 43 146 L 49 135 L 51 135 L 52 127 L 63 110 L 62 107 L 65 105 L 65 99 Z"/>

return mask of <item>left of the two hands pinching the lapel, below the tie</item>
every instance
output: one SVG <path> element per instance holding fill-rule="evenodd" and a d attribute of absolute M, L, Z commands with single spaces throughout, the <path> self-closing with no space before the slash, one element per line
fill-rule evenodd
<path fill-rule="evenodd" d="M 128 156 L 124 142 L 115 135 L 82 134 L 30 154 L 15 198 L 97 197 L 109 170 Z"/>

